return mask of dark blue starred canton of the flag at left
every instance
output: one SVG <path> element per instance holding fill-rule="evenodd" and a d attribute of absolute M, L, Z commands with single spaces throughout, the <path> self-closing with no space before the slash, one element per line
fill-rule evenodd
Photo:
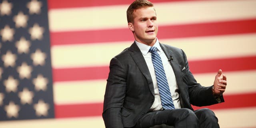
<path fill-rule="evenodd" d="M 0 120 L 54 118 L 46 5 L 0 2 Z"/>

